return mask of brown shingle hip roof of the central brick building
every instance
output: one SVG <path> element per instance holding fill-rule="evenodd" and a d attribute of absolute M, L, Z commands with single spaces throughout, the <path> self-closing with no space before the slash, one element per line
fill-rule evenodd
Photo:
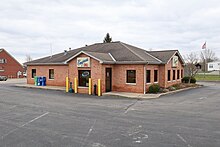
<path fill-rule="evenodd" d="M 123 43 L 123 42 L 111 42 L 111 43 L 96 43 L 93 45 L 81 47 L 71 51 L 67 51 L 66 54 L 59 53 L 53 56 L 44 57 L 41 59 L 33 60 L 25 64 L 65 64 L 68 63 L 79 53 L 86 53 L 87 55 L 102 61 L 102 63 L 149 63 L 149 64 L 164 64 L 164 61 L 171 58 L 171 51 L 164 51 L 162 56 L 160 52 L 148 52 L 144 49 Z M 172 51 L 174 52 L 174 51 Z M 176 52 L 176 50 L 175 50 Z"/>

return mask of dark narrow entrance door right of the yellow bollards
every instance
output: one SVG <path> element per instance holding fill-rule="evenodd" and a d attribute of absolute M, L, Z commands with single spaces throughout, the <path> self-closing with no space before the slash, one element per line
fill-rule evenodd
<path fill-rule="evenodd" d="M 105 69 L 105 91 L 106 92 L 112 91 L 112 69 L 111 68 Z"/>

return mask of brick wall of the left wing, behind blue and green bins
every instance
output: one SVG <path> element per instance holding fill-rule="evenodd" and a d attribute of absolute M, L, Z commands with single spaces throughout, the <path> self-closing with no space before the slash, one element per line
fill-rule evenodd
<path fill-rule="evenodd" d="M 34 84 L 32 69 L 36 69 L 36 76 L 46 77 L 48 86 L 65 86 L 66 76 L 68 75 L 68 66 L 28 66 L 27 83 Z M 54 79 L 49 79 L 49 69 L 54 69 Z"/>

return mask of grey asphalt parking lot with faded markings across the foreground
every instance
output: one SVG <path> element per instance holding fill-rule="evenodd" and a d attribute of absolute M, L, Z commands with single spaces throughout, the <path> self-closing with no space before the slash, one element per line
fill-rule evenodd
<path fill-rule="evenodd" d="M 136 100 L 0 82 L 3 147 L 219 147 L 220 83 Z"/>

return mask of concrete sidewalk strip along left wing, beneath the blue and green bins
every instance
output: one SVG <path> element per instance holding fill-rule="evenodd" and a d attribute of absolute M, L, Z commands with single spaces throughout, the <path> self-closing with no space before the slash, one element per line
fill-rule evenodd
<path fill-rule="evenodd" d="M 23 88 L 36 88 L 36 89 L 66 91 L 65 87 L 60 87 L 60 86 L 36 86 L 36 85 L 33 85 L 33 84 L 15 84 L 14 86 L 23 87 Z"/>

